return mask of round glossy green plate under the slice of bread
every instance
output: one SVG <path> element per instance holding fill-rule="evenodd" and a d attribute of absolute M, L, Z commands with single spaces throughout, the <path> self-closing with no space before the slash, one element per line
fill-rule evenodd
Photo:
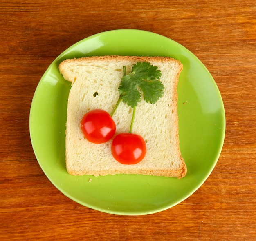
<path fill-rule="evenodd" d="M 178 84 L 180 148 L 186 177 L 69 175 L 65 168 L 65 122 L 70 82 L 58 65 L 67 58 L 95 55 L 168 56 L 180 60 Z M 120 215 L 144 215 L 166 210 L 193 194 L 216 165 L 225 137 L 225 111 L 216 83 L 193 53 L 177 42 L 141 30 L 99 33 L 59 55 L 41 78 L 30 111 L 34 153 L 49 180 L 81 205 Z"/>

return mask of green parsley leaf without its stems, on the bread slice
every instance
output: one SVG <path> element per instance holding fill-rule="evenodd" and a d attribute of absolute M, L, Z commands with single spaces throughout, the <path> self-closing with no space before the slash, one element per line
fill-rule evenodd
<path fill-rule="evenodd" d="M 155 104 L 164 94 L 164 85 L 159 80 L 161 75 L 157 66 L 149 62 L 138 62 L 133 65 L 132 72 L 122 78 L 118 88 L 123 102 L 132 108 L 137 106 L 141 100 L 139 88 L 143 92 L 144 100 Z"/>

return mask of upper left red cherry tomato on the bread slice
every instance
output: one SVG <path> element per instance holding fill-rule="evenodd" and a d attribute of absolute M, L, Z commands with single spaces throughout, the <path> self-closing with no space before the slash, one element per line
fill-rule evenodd
<path fill-rule="evenodd" d="M 116 132 L 116 124 L 108 112 L 95 109 L 87 112 L 81 121 L 83 135 L 89 142 L 104 143 Z"/>

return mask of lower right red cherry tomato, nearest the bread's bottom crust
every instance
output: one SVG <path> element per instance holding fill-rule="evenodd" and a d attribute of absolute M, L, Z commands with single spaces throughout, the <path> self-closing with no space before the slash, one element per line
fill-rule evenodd
<path fill-rule="evenodd" d="M 146 155 L 146 142 L 137 134 L 120 133 L 112 142 L 113 157 L 122 164 L 137 164 Z"/>

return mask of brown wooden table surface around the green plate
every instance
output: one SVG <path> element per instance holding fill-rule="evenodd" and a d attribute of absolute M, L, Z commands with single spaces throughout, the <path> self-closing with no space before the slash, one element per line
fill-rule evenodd
<path fill-rule="evenodd" d="M 205 183 L 168 210 L 106 214 L 72 201 L 41 170 L 29 136 L 34 91 L 77 41 L 141 29 L 193 52 L 223 98 L 226 136 Z M 0 0 L 0 240 L 256 240 L 254 0 Z"/>

